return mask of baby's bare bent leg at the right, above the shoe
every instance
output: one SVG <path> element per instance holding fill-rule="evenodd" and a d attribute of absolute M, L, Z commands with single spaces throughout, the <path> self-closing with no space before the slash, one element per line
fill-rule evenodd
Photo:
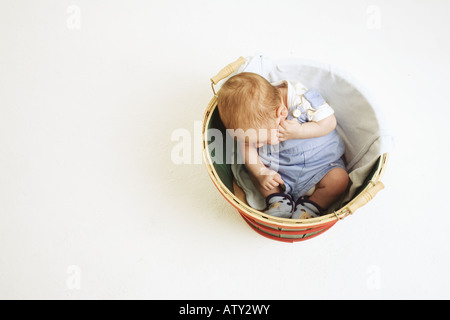
<path fill-rule="evenodd" d="M 348 182 L 347 171 L 342 168 L 333 169 L 319 181 L 309 200 L 326 209 L 345 192 Z"/>

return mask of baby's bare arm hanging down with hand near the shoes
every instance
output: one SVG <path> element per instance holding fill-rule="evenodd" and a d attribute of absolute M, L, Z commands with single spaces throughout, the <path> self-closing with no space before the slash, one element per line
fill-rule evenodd
<path fill-rule="evenodd" d="M 242 143 L 241 152 L 245 155 L 245 167 L 250 173 L 250 178 L 264 197 L 267 197 L 268 192 L 272 193 L 270 191 L 278 189 L 280 184 L 284 184 L 277 172 L 270 170 L 261 162 L 256 146 Z"/>

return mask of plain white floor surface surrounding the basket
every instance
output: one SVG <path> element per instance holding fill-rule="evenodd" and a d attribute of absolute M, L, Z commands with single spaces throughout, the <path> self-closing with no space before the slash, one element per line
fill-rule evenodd
<path fill-rule="evenodd" d="M 378 20 L 378 13 L 380 19 Z M 0 298 L 450 298 L 448 1 L 0 2 Z M 176 165 L 239 56 L 331 63 L 389 116 L 385 190 L 312 240 Z"/>

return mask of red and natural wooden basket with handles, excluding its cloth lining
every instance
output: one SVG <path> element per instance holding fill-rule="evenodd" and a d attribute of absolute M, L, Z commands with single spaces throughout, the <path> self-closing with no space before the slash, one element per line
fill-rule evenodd
<path fill-rule="evenodd" d="M 223 68 L 215 77 L 211 78 L 214 97 L 211 99 L 206 109 L 202 126 L 203 158 L 208 174 L 219 192 L 238 210 L 244 221 L 257 233 L 270 239 L 283 242 L 296 242 L 311 239 L 330 229 L 339 220 L 353 214 L 357 209 L 372 200 L 373 197 L 384 188 L 384 185 L 380 180 L 386 168 L 388 153 L 384 153 L 379 157 L 372 168 L 371 173 L 366 178 L 365 183 L 358 190 L 353 199 L 333 213 L 318 218 L 301 220 L 272 217 L 253 209 L 247 204 L 242 189 L 235 183 L 231 172 L 231 166 L 213 162 L 211 152 L 214 152 L 214 150 L 210 150 L 209 148 L 210 137 L 208 136 L 208 129 L 214 128 L 221 130 L 222 132 L 225 130 L 218 114 L 217 94 L 214 85 L 235 72 L 243 63 L 245 63 L 245 61 L 244 58 L 240 57 L 235 62 Z M 226 154 L 226 152 L 224 152 L 224 154 Z M 223 163 L 227 163 L 226 159 L 224 159 Z"/>

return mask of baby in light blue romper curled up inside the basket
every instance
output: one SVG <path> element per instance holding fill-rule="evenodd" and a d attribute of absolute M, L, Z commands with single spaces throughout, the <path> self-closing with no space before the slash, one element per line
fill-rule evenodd
<path fill-rule="evenodd" d="M 265 213 L 318 217 L 347 189 L 334 110 L 316 91 L 243 72 L 224 83 L 218 108 L 240 145 L 250 179 L 266 199 Z"/>

